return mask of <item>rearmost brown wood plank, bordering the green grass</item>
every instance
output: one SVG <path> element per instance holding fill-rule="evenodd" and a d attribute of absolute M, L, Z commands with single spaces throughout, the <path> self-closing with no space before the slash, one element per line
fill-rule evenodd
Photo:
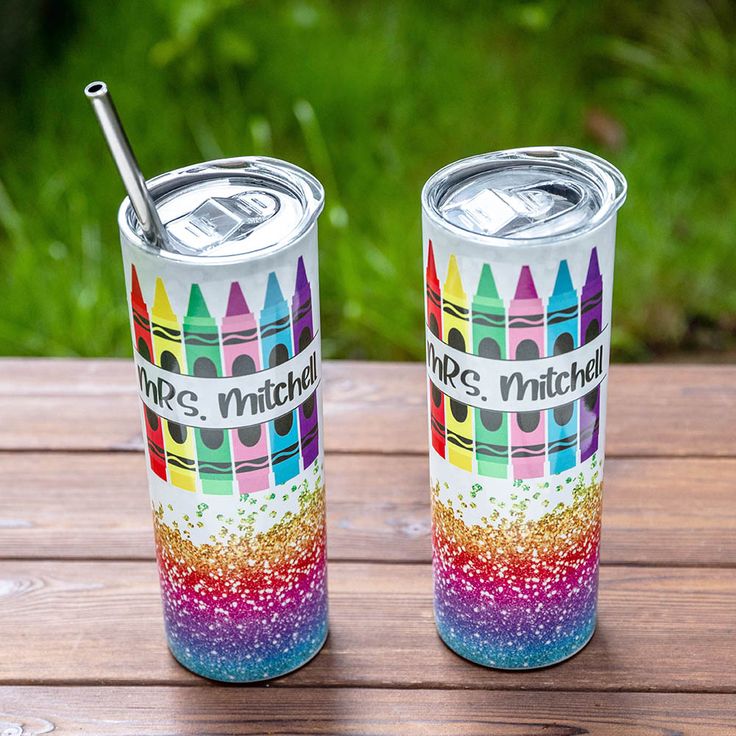
<path fill-rule="evenodd" d="M 427 450 L 420 364 L 325 364 L 326 447 Z M 140 450 L 132 363 L 0 360 L 0 449 Z M 734 456 L 736 366 L 615 365 L 608 453 Z"/>

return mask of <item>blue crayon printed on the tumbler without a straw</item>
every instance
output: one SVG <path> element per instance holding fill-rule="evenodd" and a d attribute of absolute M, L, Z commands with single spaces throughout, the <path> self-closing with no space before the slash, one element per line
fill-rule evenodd
<path fill-rule="evenodd" d="M 578 347 L 578 295 L 567 261 L 560 261 L 555 288 L 547 304 L 547 351 L 569 353 Z M 575 465 L 578 446 L 576 401 L 547 412 L 547 459 L 550 473 L 563 473 Z"/>

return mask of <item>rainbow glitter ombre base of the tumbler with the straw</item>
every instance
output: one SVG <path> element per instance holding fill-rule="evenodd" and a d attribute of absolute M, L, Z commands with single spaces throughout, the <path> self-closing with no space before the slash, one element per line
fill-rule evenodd
<path fill-rule="evenodd" d="M 258 498 L 245 533 L 222 520 L 219 538 L 205 544 L 189 538 L 196 523 L 188 515 L 166 523 L 164 508 L 155 507 L 166 634 L 184 666 L 214 680 L 253 682 L 319 651 L 327 636 L 324 492 L 319 480 L 303 486 L 298 511 L 267 531 L 253 528 L 258 513 L 270 513 Z M 208 513 L 206 504 L 198 508 L 197 516 Z"/>

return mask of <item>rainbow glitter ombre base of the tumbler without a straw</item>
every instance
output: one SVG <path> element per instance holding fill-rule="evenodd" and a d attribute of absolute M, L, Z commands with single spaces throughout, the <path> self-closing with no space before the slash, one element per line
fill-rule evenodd
<path fill-rule="evenodd" d="M 452 649 L 486 666 L 529 669 L 586 644 L 595 629 L 600 483 L 580 481 L 572 504 L 535 520 L 522 512 L 465 523 L 437 484 L 432 503 L 435 617 Z"/>

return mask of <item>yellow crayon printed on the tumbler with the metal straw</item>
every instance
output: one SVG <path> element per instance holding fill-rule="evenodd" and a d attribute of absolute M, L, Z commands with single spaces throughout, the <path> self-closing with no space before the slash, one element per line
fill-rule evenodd
<path fill-rule="evenodd" d="M 151 307 L 151 333 L 156 365 L 173 373 L 186 373 L 181 325 L 176 319 L 164 282 L 156 279 L 156 293 Z M 197 461 L 194 431 L 183 424 L 163 420 L 164 445 L 169 480 L 186 491 L 197 489 Z"/>

